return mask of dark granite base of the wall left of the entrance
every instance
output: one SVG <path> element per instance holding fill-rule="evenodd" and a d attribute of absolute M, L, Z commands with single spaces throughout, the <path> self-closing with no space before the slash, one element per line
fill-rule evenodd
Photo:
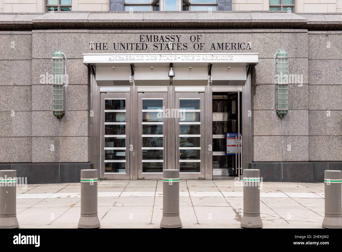
<path fill-rule="evenodd" d="M 83 169 L 92 163 L 0 163 L 0 170 L 16 170 L 28 184 L 78 183 Z"/>

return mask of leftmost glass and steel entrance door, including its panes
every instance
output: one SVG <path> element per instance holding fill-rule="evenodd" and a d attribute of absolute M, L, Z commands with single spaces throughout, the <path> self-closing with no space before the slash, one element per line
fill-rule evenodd
<path fill-rule="evenodd" d="M 129 92 L 101 93 L 101 178 L 129 179 Z"/>

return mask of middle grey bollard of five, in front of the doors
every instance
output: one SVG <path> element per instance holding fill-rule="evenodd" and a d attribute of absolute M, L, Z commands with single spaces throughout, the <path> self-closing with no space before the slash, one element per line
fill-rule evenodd
<path fill-rule="evenodd" d="M 163 170 L 163 217 L 160 227 L 182 227 L 179 217 L 179 170 Z"/>

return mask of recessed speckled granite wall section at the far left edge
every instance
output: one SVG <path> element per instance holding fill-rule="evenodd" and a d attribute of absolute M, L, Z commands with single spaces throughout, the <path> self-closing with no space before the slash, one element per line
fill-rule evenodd
<path fill-rule="evenodd" d="M 0 162 L 31 162 L 31 32 L 0 32 Z"/>

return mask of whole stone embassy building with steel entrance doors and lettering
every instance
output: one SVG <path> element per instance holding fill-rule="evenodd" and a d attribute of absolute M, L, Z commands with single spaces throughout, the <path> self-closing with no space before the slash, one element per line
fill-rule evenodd
<path fill-rule="evenodd" d="M 273 182 L 342 169 L 337 8 L 135 11 L 156 4 L 0 13 L 0 169 L 30 184 L 90 168 L 113 180 L 255 168 Z"/>

